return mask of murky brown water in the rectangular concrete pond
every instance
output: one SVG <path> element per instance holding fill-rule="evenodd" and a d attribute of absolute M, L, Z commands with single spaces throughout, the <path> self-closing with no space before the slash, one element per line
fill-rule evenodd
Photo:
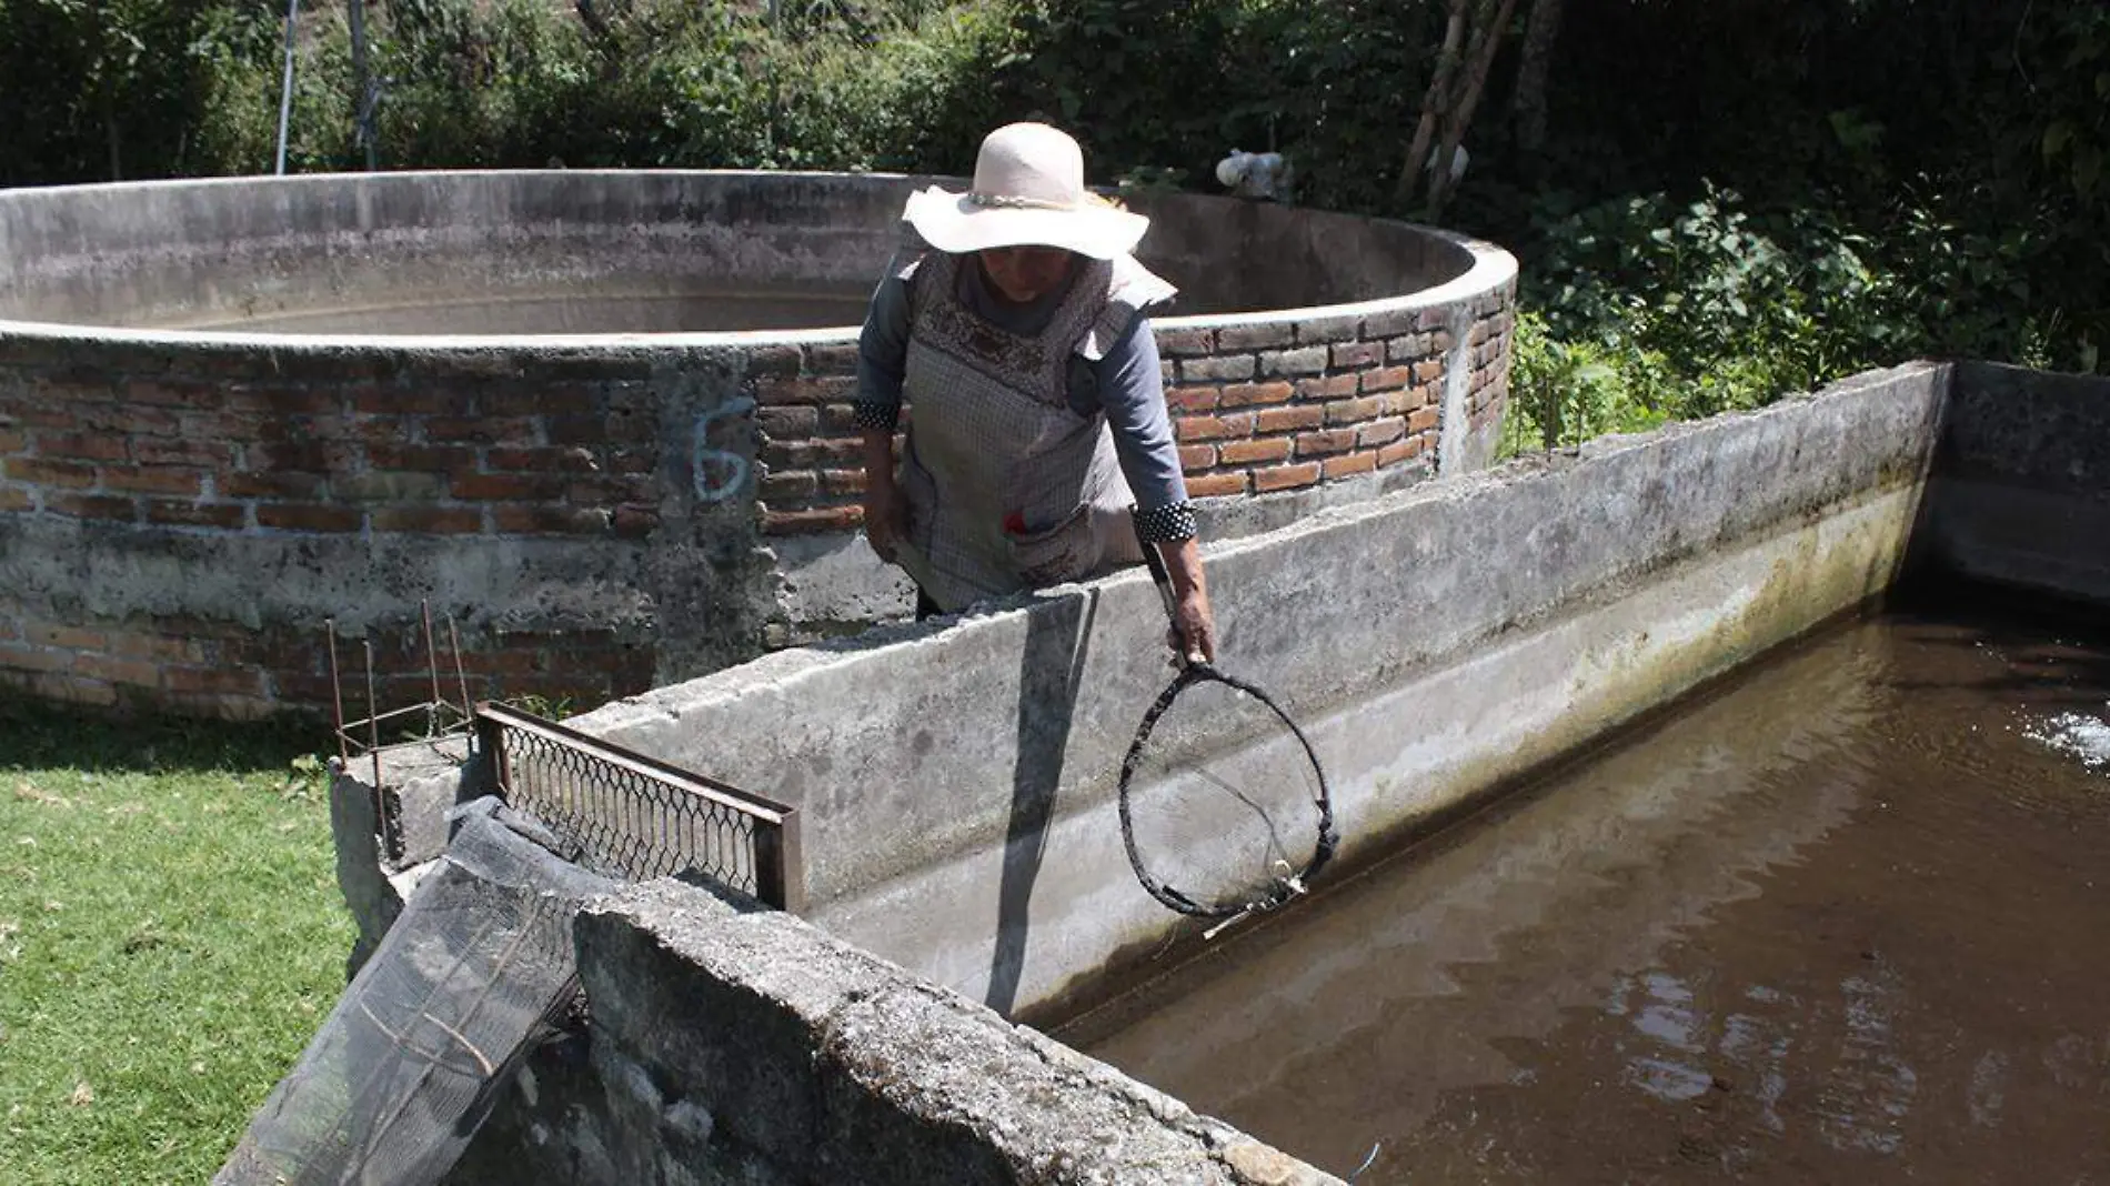
<path fill-rule="evenodd" d="M 2110 1182 L 2104 718 L 1848 625 L 1059 1036 L 1357 1186 Z"/>

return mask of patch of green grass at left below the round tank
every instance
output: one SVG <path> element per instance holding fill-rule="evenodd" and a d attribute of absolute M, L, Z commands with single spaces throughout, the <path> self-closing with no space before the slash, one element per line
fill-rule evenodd
<path fill-rule="evenodd" d="M 344 986 L 321 730 L 0 699 L 0 1182 L 205 1182 Z"/>

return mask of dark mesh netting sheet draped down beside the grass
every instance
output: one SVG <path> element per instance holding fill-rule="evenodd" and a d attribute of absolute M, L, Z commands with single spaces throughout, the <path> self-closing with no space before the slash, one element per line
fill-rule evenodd
<path fill-rule="evenodd" d="M 549 834 L 496 800 L 460 810 L 445 859 L 215 1184 L 439 1182 L 530 1038 L 572 1000 L 572 918 L 616 884 L 551 855 Z"/>

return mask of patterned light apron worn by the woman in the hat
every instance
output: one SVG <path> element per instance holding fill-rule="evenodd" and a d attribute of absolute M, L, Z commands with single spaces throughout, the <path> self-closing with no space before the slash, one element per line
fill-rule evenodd
<path fill-rule="evenodd" d="M 1106 416 L 1070 409 L 1070 359 L 1104 357 L 1173 293 L 1125 255 L 1087 260 L 1047 329 L 1021 338 L 960 304 L 962 266 L 933 251 L 901 272 L 914 323 L 899 559 L 945 612 L 1142 561 Z"/>

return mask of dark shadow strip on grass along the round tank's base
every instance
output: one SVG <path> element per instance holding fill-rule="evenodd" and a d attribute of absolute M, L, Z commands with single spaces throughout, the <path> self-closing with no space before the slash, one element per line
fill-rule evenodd
<path fill-rule="evenodd" d="M 97 772 L 285 770 L 333 749 L 329 724 L 285 715 L 213 722 L 148 711 L 57 705 L 0 688 L 0 768 Z"/>

